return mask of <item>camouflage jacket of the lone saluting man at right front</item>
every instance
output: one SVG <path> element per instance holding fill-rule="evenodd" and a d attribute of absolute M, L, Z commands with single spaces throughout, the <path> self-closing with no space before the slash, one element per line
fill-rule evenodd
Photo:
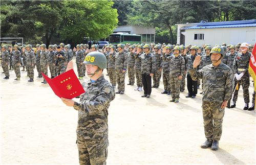
<path fill-rule="evenodd" d="M 194 81 L 203 79 L 203 101 L 222 103 L 231 98 L 233 90 L 232 70 L 221 63 L 219 66 L 209 64 L 197 71 L 189 70 Z"/>

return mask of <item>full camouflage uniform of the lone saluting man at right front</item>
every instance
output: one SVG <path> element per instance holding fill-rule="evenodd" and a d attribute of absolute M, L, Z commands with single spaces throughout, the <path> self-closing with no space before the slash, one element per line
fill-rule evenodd
<path fill-rule="evenodd" d="M 220 140 L 222 134 L 222 121 L 224 109 L 221 109 L 223 101 L 228 101 L 232 93 L 232 70 L 221 63 L 214 67 L 212 64 L 189 70 L 194 81 L 203 79 L 203 119 L 204 133 L 207 139 Z"/>

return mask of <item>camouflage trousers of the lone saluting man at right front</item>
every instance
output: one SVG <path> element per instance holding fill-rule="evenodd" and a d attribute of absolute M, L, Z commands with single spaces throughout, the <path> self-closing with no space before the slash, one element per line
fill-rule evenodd
<path fill-rule="evenodd" d="M 204 134 L 207 139 L 220 140 L 225 109 L 222 103 L 203 101 Z"/>

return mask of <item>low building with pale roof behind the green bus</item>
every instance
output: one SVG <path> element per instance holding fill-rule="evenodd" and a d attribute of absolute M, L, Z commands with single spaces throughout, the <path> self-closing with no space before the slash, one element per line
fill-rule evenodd
<path fill-rule="evenodd" d="M 120 26 L 114 29 L 114 33 L 117 32 L 126 32 L 129 34 L 139 34 L 141 35 L 141 42 L 155 42 L 155 34 L 156 34 L 156 28 L 144 28 L 139 27 L 137 25 L 133 26 Z"/>

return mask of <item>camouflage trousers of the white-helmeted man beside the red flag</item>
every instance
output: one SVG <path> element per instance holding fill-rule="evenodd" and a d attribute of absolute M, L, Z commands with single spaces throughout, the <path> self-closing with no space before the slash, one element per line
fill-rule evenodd
<path fill-rule="evenodd" d="M 244 74 L 244 76 L 241 78 L 240 81 L 237 81 L 237 79 L 235 78 L 234 85 L 237 85 L 237 83 L 238 83 L 238 87 L 239 88 L 240 88 L 240 85 L 242 84 L 243 95 L 244 95 L 244 102 L 245 103 L 249 103 L 250 102 L 250 98 L 249 98 L 249 86 L 250 86 L 249 73 L 246 72 Z M 234 87 L 236 87 L 236 86 L 234 86 Z M 237 101 L 238 100 L 238 91 L 239 90 L 234 91 L 233 101 Z"/>

